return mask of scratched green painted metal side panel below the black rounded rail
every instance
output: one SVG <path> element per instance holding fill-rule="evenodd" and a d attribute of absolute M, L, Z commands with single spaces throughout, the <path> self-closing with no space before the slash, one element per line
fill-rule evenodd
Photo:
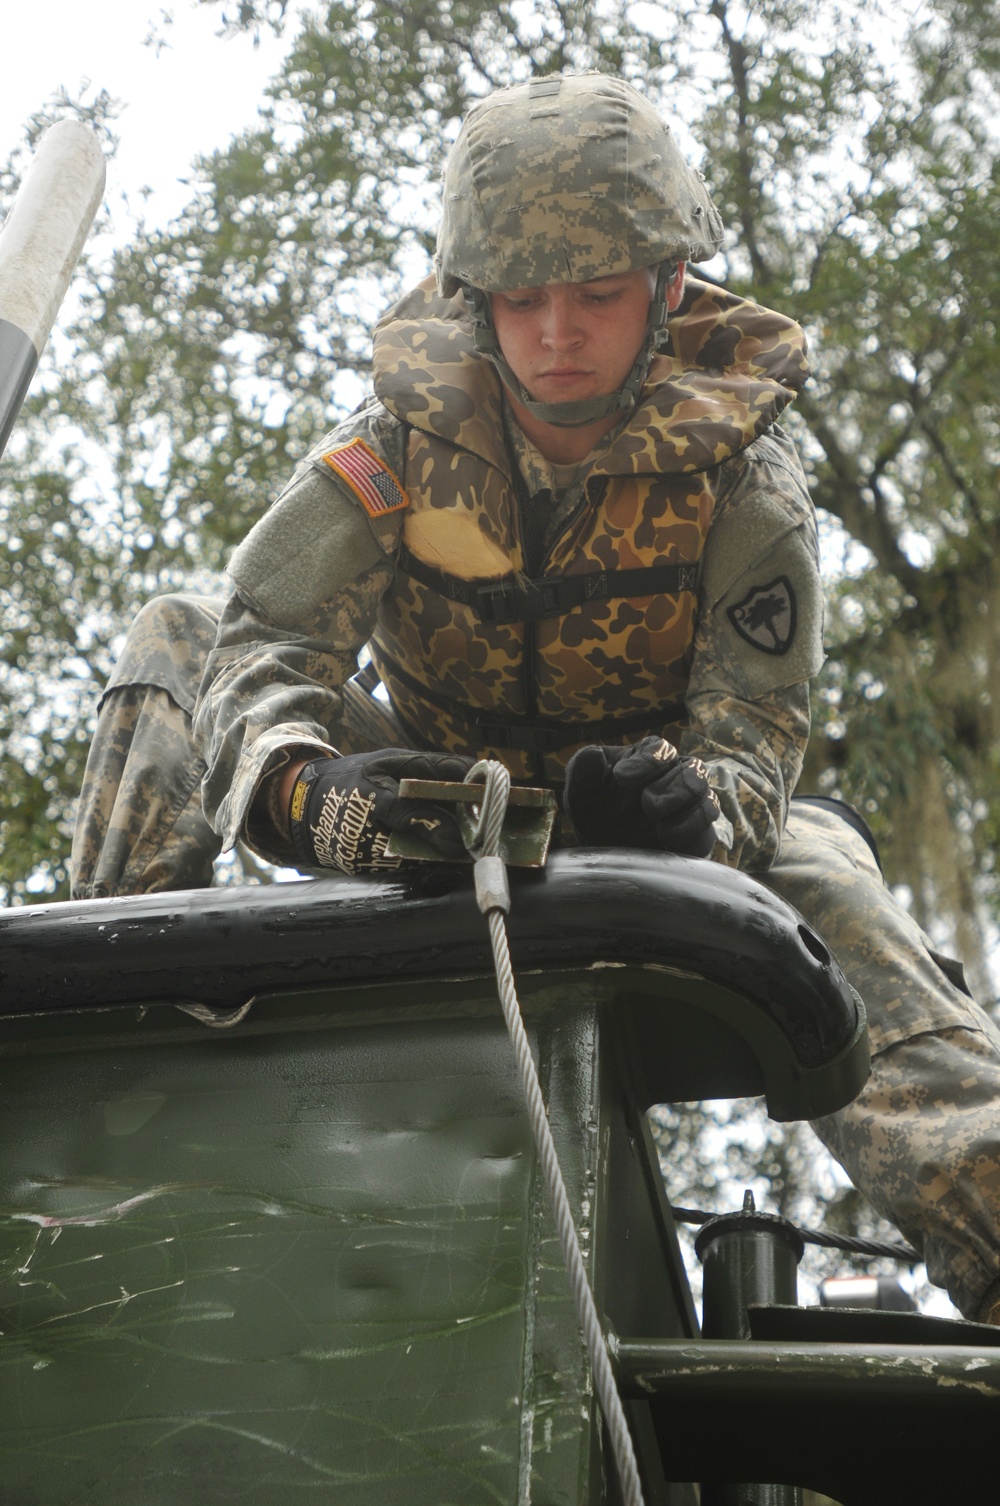
<path fill-rule="evenodd" d="M 542 989 L 530 1030 L 601 1301 L 679 1334 L 605 998 Z M 3 1023 L 5 1500 L 604 1500 L 495 1005 L 360 1005 L 264 1000 L 235 1036 L 164 1011 Z"/>

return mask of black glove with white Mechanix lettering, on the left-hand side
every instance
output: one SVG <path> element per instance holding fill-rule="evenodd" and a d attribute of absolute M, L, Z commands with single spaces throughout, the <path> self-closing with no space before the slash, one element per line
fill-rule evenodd
<path fill-rule="evenodd" d="M 416 831 L 441 857 L 461 860 L 465 845 L 446 806 L 402 800 L 401 779 L 461 782 L 474 759 L 459 753 L 411 753 L 381 748 L 346 758 L 318 758 L 300 773 L 292 789 L 289 822 L 295 855 L 306 867 L 339 867 L 370 873 L 399 867 L 386 857 L 393 831 Z"/>

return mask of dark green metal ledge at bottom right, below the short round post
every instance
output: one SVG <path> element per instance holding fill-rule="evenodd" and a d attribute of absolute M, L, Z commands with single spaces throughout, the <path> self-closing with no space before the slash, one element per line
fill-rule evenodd
<path fill-rule="evenodd" d="M 997 1348 L 634 1340 L 617 1373 L 681 1471 L 711 1459 L 717 1479 L 777 1479 L 842 1506 L 943 1506 L 995 1471 Z"/>

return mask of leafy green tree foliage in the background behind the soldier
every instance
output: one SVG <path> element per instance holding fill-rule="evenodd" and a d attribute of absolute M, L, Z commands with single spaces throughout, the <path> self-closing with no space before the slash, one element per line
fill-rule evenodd
<path fill-rule="evenodd" d="M 286 62 L 255 128 L 196 163 L 185 212 L 84 270 L 5 461 L 9 898 L 65 893 L 87 709 L 134 605 L 217 571 L 361 393 L 375 318 L 428 267 L 467 104 L 601 68 L 703 149 L 729 227 L 709 273 L 809 331 L 815 381 L 789 425 L 824 520 L 831 657 L 807 779 L 869 815 L 890 880 L 985 986 L 995 0 L 886 17 L 855 0 L 203 3 L 229 30 L 285 27 Z"/>

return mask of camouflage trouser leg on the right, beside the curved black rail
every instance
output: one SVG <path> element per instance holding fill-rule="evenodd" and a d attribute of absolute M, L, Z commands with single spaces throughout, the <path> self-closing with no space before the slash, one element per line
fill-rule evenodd
<path fill-rule="evenodd" d="M 867 1011 L 872 1075 L 813 1130 L 959 1312 L 985 1315 L 1000 1297 L 1000 1035 L 839 816 L 792 801 L 755 876 L 819 931 Z"/>

